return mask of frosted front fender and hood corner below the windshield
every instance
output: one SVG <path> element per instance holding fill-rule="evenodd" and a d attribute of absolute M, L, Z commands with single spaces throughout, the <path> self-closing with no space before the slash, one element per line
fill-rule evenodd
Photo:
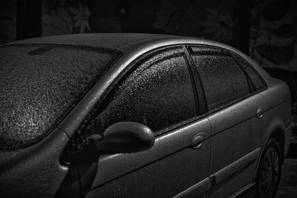
<path fill-rule="evenodd" d="M 43 141 L 1 163 L 0 197 L 54 197 L 68 172 L 68 167 L 59 163 L 61 148 L 68 140 L 64 132 L 56 129 Z"/>

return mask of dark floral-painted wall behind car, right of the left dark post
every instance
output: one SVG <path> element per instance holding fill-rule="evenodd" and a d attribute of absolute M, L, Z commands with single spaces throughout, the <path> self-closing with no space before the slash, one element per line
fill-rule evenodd
<path fill-rule="evenodd" d="M 42 36 L 135 32 L 232 44 L 235 0 L 43 0 Z M 254 0 L 249 55 L 297 71 L 297 1 Z"/>

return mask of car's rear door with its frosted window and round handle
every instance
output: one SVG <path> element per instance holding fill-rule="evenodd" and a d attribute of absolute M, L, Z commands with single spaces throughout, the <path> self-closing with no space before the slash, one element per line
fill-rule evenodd
<path fill-rule="evenodd" d="M 194 46 L 191 56 L 205 93 L 211 125 L 210 198 L 252 185 L 266 130 L 265 99 L 231 53 Z"/>

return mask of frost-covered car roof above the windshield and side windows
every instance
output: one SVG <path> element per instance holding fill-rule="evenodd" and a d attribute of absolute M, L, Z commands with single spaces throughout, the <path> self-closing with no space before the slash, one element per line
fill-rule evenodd
<path fill-rule="evenodd" d="M 72 44 L 72 45 L 86 45 L 96 46 L 112 49 L 123 49 L 133 44 L 137 48 L 146 48 L 150 45 L 156 44 L 160 46 L 166 46 L 170 44 L 204 44 L 232 51 L 237 51 L 228 45 L 211 41 L 207 39 L 183 37 L 174 35 L 161 35 L 161 34 L 142 34 L 142 33 L 92 33 L 92 34 L 72 34 L 72 35 L 58 35 L 50 37 L 39 37 L 32 39 L 25 39 L 21 41 L 15 41 L 4 45 L 15 44 Z M 3 46 L 4 46 L 3 45 Z"/>

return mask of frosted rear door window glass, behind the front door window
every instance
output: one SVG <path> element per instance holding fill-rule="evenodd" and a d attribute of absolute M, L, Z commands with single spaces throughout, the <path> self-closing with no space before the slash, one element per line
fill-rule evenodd
<path fill-rule="evenodd" d="M 206 96 L 208 110 L 212 110 L 249 94 L 244 72 L 230 56 L 192 55 Z"/>

